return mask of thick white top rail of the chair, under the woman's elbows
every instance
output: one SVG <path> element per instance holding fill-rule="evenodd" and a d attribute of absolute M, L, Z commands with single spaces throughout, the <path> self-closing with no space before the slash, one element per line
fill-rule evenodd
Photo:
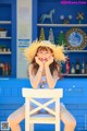
<path fill-rule="evenodd" d="M 33 88 L 25 88 L 22 90 L 23 97 L 32 97 L 32 98 L 61 98 L 63 96 L 62 88 L 54 88 L 54 90 L 33 90 Z"/>

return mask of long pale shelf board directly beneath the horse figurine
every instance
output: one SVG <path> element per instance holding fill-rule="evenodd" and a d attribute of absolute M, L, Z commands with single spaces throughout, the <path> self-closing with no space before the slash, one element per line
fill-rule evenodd
<path fill-rule="evenodd" d="M 37 24 L 44 27 L 87 27 L 87 24 Z"/>

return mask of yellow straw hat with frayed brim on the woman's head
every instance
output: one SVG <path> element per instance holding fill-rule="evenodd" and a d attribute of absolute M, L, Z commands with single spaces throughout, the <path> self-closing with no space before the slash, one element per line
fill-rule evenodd
<path fill-rule="evenodd" d="M 64 49 L 63 46 L 57 46 L 54 44 L 51 44 L 49 40 L 42 40 L 42 41 L 34 41 L 30 44 L 28 48 L 24 50 L 24 56 L 27 58 L 28 62 L 32 62 L 38 47 L 49 47 L 53 50 L 54 53 L 54 60 L 55 61 L 65 61 L 65 56 L 64 56 Z"/>

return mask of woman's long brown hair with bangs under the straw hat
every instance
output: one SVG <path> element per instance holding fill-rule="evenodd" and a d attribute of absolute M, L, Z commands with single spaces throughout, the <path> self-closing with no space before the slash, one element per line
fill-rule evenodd
<path fill-rule="evenodd" d="M 51 48 L 40 46 L 40 47 L 38 47 L 35 57 L 37 56 L 38 50 L 46 50 L 46 51 L 50 50 L 51 52 L 53 52 Z M 39 69 L 39 66 L 35 61 L 35 57 L 32 61 L 34 74 L 36 74 Z M 50 72 L 52 75 L 53 75 L 53 71 L 58 71 L 58 78 L 62 79 L 60 63 L 58 63 L 55 60 L 53 60 L 53 62 L 49 66 L 49 68 L 50 68 Z"/>

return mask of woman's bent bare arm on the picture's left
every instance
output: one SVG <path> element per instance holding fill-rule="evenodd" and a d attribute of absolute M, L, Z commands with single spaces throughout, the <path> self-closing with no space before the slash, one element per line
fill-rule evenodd
<path fill-rule="evenodd" d="M 35 75 L 33 73 L 33 64 L 29 64 L 29 67 L 28 67 L 30 84 L 32 84 L 33 88 L 35 88 L 35 90 L 37 88 L 37 86 L 38 86 L 38 84 L 40 82 L 42 69 L 44 69 L 44 67 L 39 66 L 39 69 L 37 71 L 36 75 Z"/>

